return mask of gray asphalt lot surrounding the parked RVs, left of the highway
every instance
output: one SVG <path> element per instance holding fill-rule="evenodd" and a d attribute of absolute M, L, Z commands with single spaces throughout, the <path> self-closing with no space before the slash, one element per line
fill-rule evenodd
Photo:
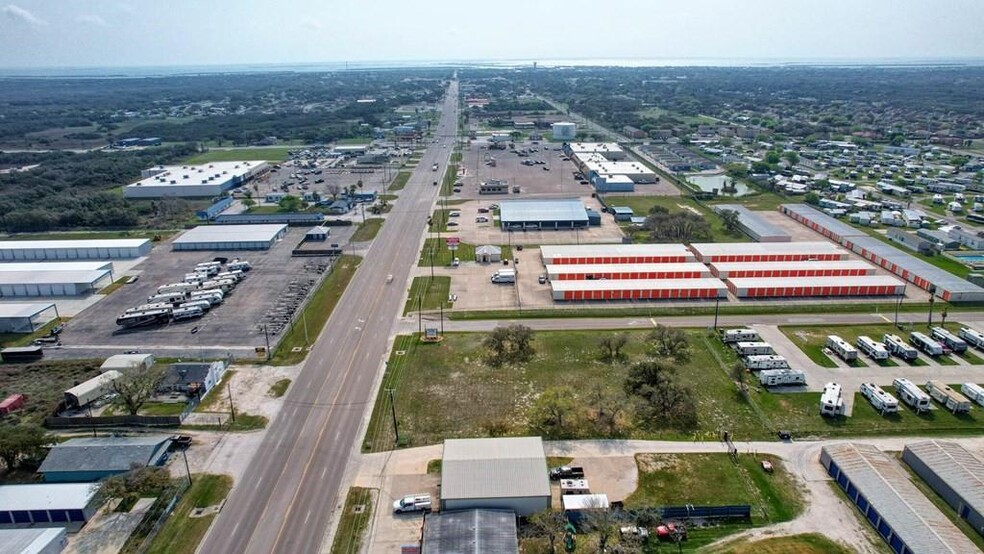
<path fill-rule="evenodd" d="M 332 228 L 351 235 L 352 228 Z M 147 260 L 128 273 L 139 274 L 139 280 L 107 296 L 73 318 L 61 335 L 67 351 L 79 348 L 113 348 L 120 350 L 186 349 L 196 357 L 199 351 L 206 357 L 230 353 L 234 356 L 253 356 L 254 348 L 265 346 L 267 324 L 271 345 L 282 331 L 274 332 L 274 321 L 268 317 L 281 297 L 302 287 L 317 283 L 327 267 L 328 258 L 294 258 L 291 250 L 303 238 L 305 229 L 291 228 L 287 236 L 268 251 L 172 251 L 169 242 L 157 245 Z M 344 242 L 344 241 L 343 241 Z M 116 318 L 126 309 L 143 304 L 157 287 L 180 282 L 195 264 L 216 257 L 249 261 L 253 269 L 246 274 L 222 304 L 213 307 L 199 319 L 173 322 L 159 327 L 123 329 Z M 298 309 L 300 306 L 298 306 Z M 192 332 L 194 330 L 194 333 Z"/>

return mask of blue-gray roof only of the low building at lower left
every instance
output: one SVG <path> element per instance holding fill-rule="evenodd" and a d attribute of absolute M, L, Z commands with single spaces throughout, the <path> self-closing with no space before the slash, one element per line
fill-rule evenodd
<path fill-rule="evenodd" d="M 156 462 L 170 442 L 165 435 L 69 439 L 51 449 L 38 472 L 129 471 L 131 464 Z"/>

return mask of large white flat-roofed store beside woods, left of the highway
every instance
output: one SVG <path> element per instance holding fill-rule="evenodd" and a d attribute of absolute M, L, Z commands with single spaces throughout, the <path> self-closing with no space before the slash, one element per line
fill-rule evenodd
<path fill-rule="evenodd" d="M 202 165 L 158 166 L 141 172 L 143 179 L 123 187 L 124 198 L 202 198 L 229 189 L 269 171 L 262 161 L 212 162 Z"/>

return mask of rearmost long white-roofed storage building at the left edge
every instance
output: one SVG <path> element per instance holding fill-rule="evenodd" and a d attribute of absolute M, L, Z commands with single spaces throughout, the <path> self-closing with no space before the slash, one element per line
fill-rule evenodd
<path fill-rule="evenodd" d="M 150 253 L 148 239 L 0 241 L 0 261 L 132 259 Z"/>

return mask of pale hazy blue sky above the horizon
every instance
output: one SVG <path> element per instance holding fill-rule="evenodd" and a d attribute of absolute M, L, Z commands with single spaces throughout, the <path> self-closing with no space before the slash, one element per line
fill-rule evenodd
<path fill-rule="evenodd" d="M 0 0 L 0 68 L 984 59 L 982 0 Z"/>

